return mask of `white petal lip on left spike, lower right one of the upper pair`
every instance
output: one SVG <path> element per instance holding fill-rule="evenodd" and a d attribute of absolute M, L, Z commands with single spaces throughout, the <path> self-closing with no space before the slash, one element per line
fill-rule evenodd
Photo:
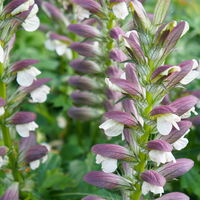
<path fill-rule="evenodd" d="M 31 95 L 31 103 L 44 103 L 47 100 L 47 95 L 50 92 L 50 88 L 46 85 L 42 85 L 41 87 L 33 90 Z"/>

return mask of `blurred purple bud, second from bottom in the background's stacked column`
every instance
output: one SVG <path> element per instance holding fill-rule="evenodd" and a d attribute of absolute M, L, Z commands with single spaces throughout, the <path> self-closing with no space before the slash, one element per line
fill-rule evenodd
<path fill-rule="evenodd" d="M 74 91 L 71 95 L 75 104 L 79 105 L 97 105 L 102 103 L 101 99 L 91 92 Z"/>

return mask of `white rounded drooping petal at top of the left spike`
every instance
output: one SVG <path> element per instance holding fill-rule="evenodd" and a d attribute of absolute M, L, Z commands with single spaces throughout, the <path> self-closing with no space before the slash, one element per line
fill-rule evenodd
<path fill-rule="evenodd" d="M 38 9 L 37 4 L 34 4 L 31 12 L 28 15 L 28 17 L 22 23 L 22 26 L 26 31 L 32 32 L 32 31 L 35 31 L 39 28 L 40 19 L 36 15 L 38 10 L 39 9 Z"/>

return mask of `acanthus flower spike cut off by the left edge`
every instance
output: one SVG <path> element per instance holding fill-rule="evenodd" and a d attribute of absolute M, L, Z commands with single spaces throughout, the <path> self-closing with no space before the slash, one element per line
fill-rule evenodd
<path fill-rule="evenodd" d="M 0 166 L 5 172 L 2 182 L 5 187 L 11 185 L 1 199 L 18 200 L 26 198 L 21 191 L 26 192 L 23 188 L 31 179 L 29 166 L 38 168 L 48 154 L 47 147 L 36 142 L 36 114 L 22 111 L 21 105 L 27 96 L 30 103 L 46 101 L 50 88 L 45 83 L 50 79 L 37 77 L 41 73 L 34 67 L 37 60 L 10 64 L 18 28 L 32 32 L 40 25 L 37 4 L 34 0 L 12 0 L 6 5 L 1 1 L 0 7 L 0 133 L 4 144 L 0 147 Z"/>

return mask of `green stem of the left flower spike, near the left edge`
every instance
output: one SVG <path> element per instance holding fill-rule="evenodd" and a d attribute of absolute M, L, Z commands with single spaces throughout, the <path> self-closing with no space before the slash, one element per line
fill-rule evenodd
<path fill-rule="evenodd" d="M 2 76 L 3 72 L 4 72 L 3 64 L 0 64 L 0 77 Z M 0 80 L 0 97 L 2 97 L 3 99 L 6 99 L 6 84 L 2 80 Z M 17 167 L 16 155 L 15 155 L 14 148 L 12 146 L 13 142 L 10 136 L 10 130 L 4 123 L 5 116 L 6 116 L 6 112 L 4 116 L 2 117 L 3 123 L 1 124 L 3 141 L 4 141 L 5 146 L 7 146 L 10 151 L 8 154 L 8 157 L 9 157 L 9 162 L 12 168 L 12 174 L 13 174 L 14 180 L 19 182 L 20 174 Z"/>

